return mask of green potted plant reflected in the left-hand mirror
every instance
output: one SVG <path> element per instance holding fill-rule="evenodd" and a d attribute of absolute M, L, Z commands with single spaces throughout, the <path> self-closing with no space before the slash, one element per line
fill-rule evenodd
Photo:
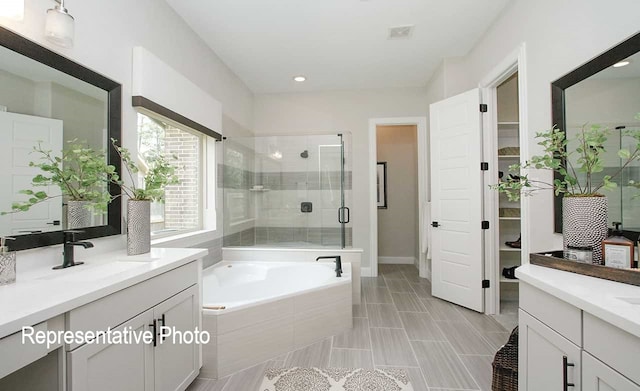
<path fill-rule="evenodd" d="M 32 189 L 21 190 L 27 200 L 14 202 L 11 212 L 28 211 L 34 205 L 63 197 L 67 204 L 67 228 L 82 228 L 91 225 L 92 212 L 107 210 L 112 200 L 107 184 L 118 180 L 116 168 L 107 164 L 104 151 L 90 147 L 86 141 L 67 141 L 60 155 L 44 149 L 41 143 L 33 147 L 32 153 L 40 155 L 37 162 L 29 162 L 30 167 L 39 168 L 42 173 L 31 180 Z M 61 194 L 50 195 L 37 187 L 57 186 Z"/>

